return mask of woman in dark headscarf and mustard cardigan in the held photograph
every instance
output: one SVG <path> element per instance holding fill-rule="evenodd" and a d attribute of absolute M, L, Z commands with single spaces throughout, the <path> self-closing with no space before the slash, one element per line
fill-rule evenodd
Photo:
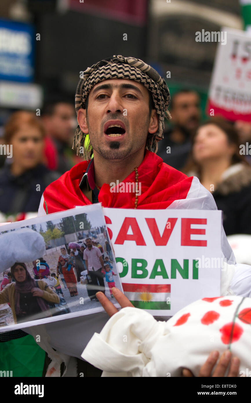
<path fill-rule="evenodd" d="M 0 304 L 10 303 L 15 323 L 27 322 L 51 315 L 48 302 L 59 303 L 60 299 L 43 280 L 31 278 L 25 263 L 15 263 L 10 268 L 15 283 L 0 292 Z"/>

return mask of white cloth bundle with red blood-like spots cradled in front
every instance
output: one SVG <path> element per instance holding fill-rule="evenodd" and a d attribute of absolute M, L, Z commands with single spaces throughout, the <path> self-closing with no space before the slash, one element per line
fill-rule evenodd
<path fill-rule="evenodd" d="M 251 368 L 251 298 L 203 298 L 178 311 L 167 322 L 133 307 L 116 313 L 95 333 L 82 357 L 103 370 L 102 376 L 195 376 L 213 350 L 230 346 Z"/>

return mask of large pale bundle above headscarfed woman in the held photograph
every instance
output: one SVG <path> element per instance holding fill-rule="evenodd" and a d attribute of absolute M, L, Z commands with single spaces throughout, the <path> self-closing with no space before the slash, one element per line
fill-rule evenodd
<path fill-rule="evenodd" d="M 0 272 L 16 262 L 32 262 L 46 253 L 44 238 L 29 228 L 0 235 Z"/>

